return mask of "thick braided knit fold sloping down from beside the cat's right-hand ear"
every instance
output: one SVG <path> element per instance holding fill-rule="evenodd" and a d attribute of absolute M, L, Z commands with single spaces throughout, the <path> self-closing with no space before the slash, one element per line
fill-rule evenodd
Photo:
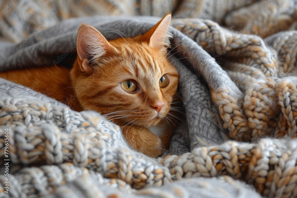
<path fill-rule="evenodd" d="M 253 67 L 252 69 L 257 67 L 260 70 L 252 72 L 254 75 L 252 77 L 257 78 L 261 74 L 267 77 L 277 77 L 279 73 L 276 52 L 269 48 L 260 37 L 231 32 L 211 20 L 174 19 L 172 25 L 196 41 L 214 58 L 219 61 L 226 59 L 223 62 L 226 63 L 224 66 L 227 66 L 225 69 L 230 69 L 228 68 L 229 62 L 226 61 L 232 57 L 233 62 L 237 64 Z M 244 72 L 247 72 L 247 68 Z"/>

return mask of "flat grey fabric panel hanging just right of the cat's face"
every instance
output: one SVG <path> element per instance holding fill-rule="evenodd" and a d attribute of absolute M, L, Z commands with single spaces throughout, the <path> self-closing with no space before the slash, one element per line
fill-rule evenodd
<path fill-rule="evenodd" d="M 195 74 L 181 62 L 173 62 L 179 70 L 180 88 L 189 128 L 191 150 L 201 146 L 222 144 L 226 137 L 217 106 L 212 102 L 210 91 Z"/>

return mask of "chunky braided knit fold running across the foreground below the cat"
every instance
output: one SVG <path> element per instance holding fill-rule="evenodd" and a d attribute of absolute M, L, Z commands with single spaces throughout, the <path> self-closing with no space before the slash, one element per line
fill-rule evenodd
<path fill-rule="evenodd" d="M 25 102 L 28 104 L 28 101 Z M 132 192 L 130 185 L 138 189 L 144 185 L 162 186 L 183 178 L 229 175 L 254 184 L 260 193 L 268 196 L 283 190 L 290 181 L 297 181 L 294 171 L 296 140 L 263 139 L 257 144 L 230 141 L 220 146 L 197 148 L 181 156 L 168 156 L 157 164 L 156 161 L 120 147 L 117 142 L 122 142 L 122 139 L 117 137 L 118 128 L 106 121 L 94 120 L 92 116 L 83 116 L 68 108 L 42 106 L 42 103 L 36 102 L 22 105 L 22 102 L 13 104 L 12 100 L 1 100 L 0 104 L 4 104 L 1 106 L 1 128 L 10 127 L 10 134 L 13 135 L 13 141 L 10 142 L 10 162 L 13 163 L 14 172 L 10 187 L 16 189 L 11 194 L 13 197 L 19 197 L 22 192 L 27 196 L 46 195 L 81 175 L 85 180 L 91 180 L 88 185 L 96 182 L 116 188 L 119 193 Z M 42 109 L 43 112 L 37 111 L 42 112 L 38 114 L 36 109 Z M 21 132 L 20 127 L 16 126 L 21 124 L 20 116 L 27 126 L 42 123 L 49 116 L 52 122 L 60 121 L 61 125 L 54 127 L 47 124 L 39 128 L 39 134 L 32 133 L 38 130 L 25 129 Z M 78 120 L 80 122 L 73 123 Z M 104 134 L 107 129 L 111 135 Z M 1 156 L 2 161 L 3 158 Z M 36 163 L 53 165 L 20 169 L 21 164 Z M 98 172 L 115 179 L 102 178 Z M 1 175 L 0 179 L 3 182 L 4 176 Z M 19 185 L 22 189 L 18 189 Z M 59 191 L 62 190 L 59 188 Z M 3 191 L 1 187 L 0 192 Z M 104 193 L 100 189 L 97 191 Z M 288 188 L 282 195 L 294 197 L 296 192 L 295 188 Z"/>

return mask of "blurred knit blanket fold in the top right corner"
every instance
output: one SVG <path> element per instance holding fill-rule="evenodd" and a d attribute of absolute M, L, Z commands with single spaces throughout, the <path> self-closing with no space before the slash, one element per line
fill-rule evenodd
<path fill-rule="evenodd" d="M 227 26 L 242 26 L 244 33 L 256 34 L 265 38 L 279 31 L 287 30 L 296 21 L 296 1 L 261 0 L 225 16 Z"/>

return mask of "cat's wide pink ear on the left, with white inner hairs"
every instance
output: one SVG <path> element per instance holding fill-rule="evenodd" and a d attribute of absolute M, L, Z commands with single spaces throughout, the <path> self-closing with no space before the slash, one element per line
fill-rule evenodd
<path fill-rule="evenodd" d="M 94 27 L 81 24 L 77 34 L 78 63 L 83 72 L 92 72 L 100 57 L 114 49 L 105 37 Z"/>

